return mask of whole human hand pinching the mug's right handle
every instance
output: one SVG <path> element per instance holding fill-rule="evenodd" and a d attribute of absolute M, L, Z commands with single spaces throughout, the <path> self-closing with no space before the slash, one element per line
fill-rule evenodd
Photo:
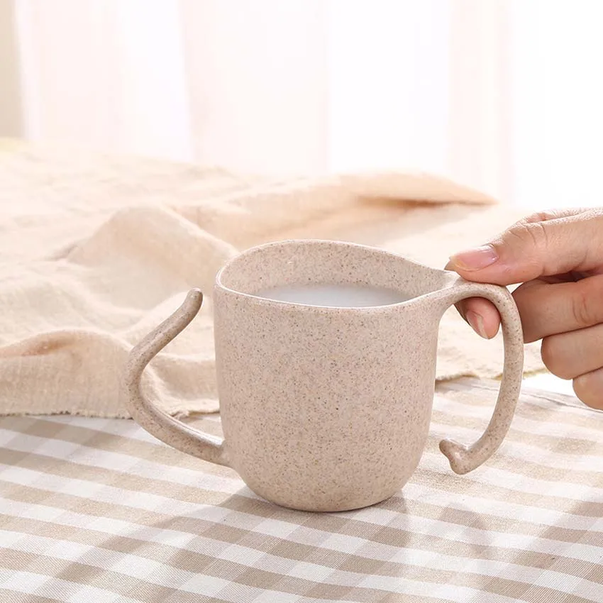
<path fill-rule="evenodd" d="M 523 283 L 513 297 L 524 340 L 541 339 L 548 370 L 603 409 L 603 209 L 534 214 L 453 255 L 446 268 L 475 282 Z M 496 335 L 500 316 L 490 302 L 471 298 L 457 308 L 482 337 Z"/>

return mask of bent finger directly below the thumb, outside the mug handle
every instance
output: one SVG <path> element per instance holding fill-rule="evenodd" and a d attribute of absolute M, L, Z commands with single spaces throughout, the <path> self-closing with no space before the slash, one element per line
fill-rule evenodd
<path fill-rule="evenodd" d="M 533 280 L 513 297 L 526 343 L 603 323 L 603 275 L 556 284 Z"/>

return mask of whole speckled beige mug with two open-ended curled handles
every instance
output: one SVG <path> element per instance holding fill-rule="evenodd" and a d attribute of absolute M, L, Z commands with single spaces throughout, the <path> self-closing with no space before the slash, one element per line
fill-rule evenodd
<path fill-rule="evenodd" d="M 291 303 L 275 287 L 363 286 L 406 301 L 344 307 Z M 423 453 L 431 419 L 438 323 L 467 297 L 502 315 L 504 375 L 485 433 L 471 446 L 444 440 L 457 473 L 502 443 L 519 396 L 523 338 L 513 298 L 383 250 L 321 240 L 260 245 L 216 277 L 216 371 L 224 439 L 199 433 L 140 392 L 145 366 L 192 321 L 193 289 L 175 314 L 132 350 L 125 386 L 131 414 L 157 438 L 228 465 L 255 493 L 284 507 L 343 511 L 398 492 Z"/>

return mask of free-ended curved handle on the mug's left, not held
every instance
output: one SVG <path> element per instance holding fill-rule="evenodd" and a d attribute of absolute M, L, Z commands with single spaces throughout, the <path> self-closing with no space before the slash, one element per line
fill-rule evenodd
<path fill-rule="evenodd" d="M 128 356 L 123 374 L 123 389 L 128 411 L 133 419 L 155 438 L 209 463 L 228 466 L 226 449 L 221 438 L 201 433 L 175 419 L 145 397 L 140 387 L 140 378 L 145 367 L 160 350 L 184 331 L 184 328 L 197 316 L 202 304 L 201 290 L 191 289 L 182 306 L 134 346 Z"/>

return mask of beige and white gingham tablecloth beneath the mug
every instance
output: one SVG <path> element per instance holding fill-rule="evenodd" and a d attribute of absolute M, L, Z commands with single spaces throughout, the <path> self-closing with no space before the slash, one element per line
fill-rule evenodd
<path fill-rule="evenodd" d="M 0 419 L 0 601 L 601 603 L 603 413 L 524 393 L 454 475 L 438 439 L 473 441 L 496 387 L 440 385 L 409 484 L 341 514 L 275 507 L 133 421 Z"/>

